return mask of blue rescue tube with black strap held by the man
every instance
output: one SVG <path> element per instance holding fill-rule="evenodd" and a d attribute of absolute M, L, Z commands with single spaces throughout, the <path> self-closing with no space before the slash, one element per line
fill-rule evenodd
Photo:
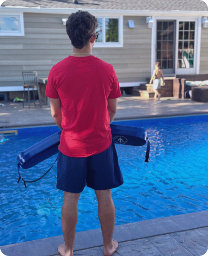
<path fill-rule="evenodd" d="M 132 126 L 125 126 L 125 125 L 110 125 L 112 138 L 114 143 L 121 144 L 121 145 L 131 145 L 131 146 L 143 146 L 147 143 L 147 152 L 145 156 L 145 162 L 149 162 L 149 151 L 150 151 L 150 142 L 147 138 L 147 132 L 141 128 L 138 127 L 132 127 Z M 20 179 L 24 181 L 24 186 L 26 187 L 26 182 L 35 182 L 39 181 L 43 178 L 44 175 L 46 175 L 49 170 L 54 166 L 55 160 L 53 166 L 39 179 L 35 181 L 25 181 L 24 178 L 20 175 L 20 166 L 23 169 L 29 169 L 35 165 L 37 165 L 40 162 L 43 162 L 44 160 L 48 159 L 50 156 L 54 156 L 58 153 L 58 146 L 60 144 L 60 138 L 61 138 L 61 131 L 43 139 L 42 141 L 38 142 L 37 144 L 31 146 L 30 148 L 24 150 L 22 153 L 20 153 L 17 156 L 18 160 L 18 183 Z"/>

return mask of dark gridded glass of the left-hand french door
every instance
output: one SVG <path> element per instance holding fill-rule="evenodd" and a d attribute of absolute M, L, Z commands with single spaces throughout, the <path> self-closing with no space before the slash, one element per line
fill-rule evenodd
<path fill-rule="evenodd" d="M 157 61 L 161 63 L 161 69 L 173 68 L 173 59 L 174 59 L 173 50 L 174 50 L 174 21 L 158 21 L 157 22 Z"/>

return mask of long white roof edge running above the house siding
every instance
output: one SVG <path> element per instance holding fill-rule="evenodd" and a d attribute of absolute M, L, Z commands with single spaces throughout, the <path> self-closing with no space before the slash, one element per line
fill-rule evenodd
<path fill-rule="evenodd" d="M 0 12 L 37 12 L 53 14 L 70 14 L 74 11 L 88 11 L 92 14 L 107 15 L 125 15 L 125 16 L 206 16 L 208 11 L 151 11 L 151 10 L 117 10 L 117 9 L 83 9 L 83 8 L 45 8 L 45 7 L 27 7 L 27 6 L 0 6 Z"/>

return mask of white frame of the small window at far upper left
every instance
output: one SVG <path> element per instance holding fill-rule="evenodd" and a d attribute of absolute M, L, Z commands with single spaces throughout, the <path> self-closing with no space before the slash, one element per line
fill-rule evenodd
<path fill-rule="evenodd" d="M 9 37 L 24 37 L 24 18 L 23 12 L 0 12 L 2 17 L 18 17 L 19 19 L 19 29 L 20 31 L 0 31 L 0 36 L 9 36 Z"/>

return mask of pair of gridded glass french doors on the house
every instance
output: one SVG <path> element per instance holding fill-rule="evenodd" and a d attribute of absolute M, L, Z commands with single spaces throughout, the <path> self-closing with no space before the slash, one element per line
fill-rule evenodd
<path fill-rule="evenodd" d="M 196 28 L 194 19 L 157 19 L 155 60 L 164 74 L 196 74 Z"/>

